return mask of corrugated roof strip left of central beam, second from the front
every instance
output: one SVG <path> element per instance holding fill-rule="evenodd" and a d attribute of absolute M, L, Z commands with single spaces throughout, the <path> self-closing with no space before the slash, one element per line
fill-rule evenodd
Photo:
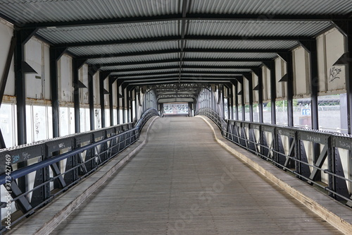
<path fill-rule="evenodd" d="M 181 35 L 178 21 L 149 23 L 127 23 L 121 25 L 94 25 L 70 28 L 43 28 L 38 35 L 50 42 L 99 42 L 129 40 L 146 37 L 167 37 Z"/>

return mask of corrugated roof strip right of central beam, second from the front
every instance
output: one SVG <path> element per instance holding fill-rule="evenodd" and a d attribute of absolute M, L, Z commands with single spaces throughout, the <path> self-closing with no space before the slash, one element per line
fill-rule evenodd
<path fill-rule="evenodd" d="M 313 36 L 329 21 L 189 20 L 189 35 L 211 36 Z"/>

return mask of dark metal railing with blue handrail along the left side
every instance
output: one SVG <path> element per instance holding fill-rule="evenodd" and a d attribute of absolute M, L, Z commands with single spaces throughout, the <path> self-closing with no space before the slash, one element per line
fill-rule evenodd
<path fill-rule="evenodd" d="M 0 184 L 11 195 L 11 199 L 1 203 L 1 208 L 15 202 L 23 213 L 11 221 L 11 226 L 136 142 L 151 116 L 158 116 L 156 109 L 146 110 L 135 125 L 126 123 L 0 150 Z M 37 162 L 27 165 L 33 160 Z M 64 161 L 65 169 L 61 169 Z M 18 169 L 13 171 L 15 164 Z M 25 166 L 20 167 L 21 164 Z M 35 174 L 32 189 L 28 189 L 29 182 L 25 178 L 29 174 Z M 7 230 L 6 217 L 1 217 L 1 221 L 0 234 Z"/>

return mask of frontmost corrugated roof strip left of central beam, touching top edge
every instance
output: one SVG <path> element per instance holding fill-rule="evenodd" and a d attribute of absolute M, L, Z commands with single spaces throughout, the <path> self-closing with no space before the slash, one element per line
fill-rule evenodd
<path fill-rule="evenodd" d="M 165 0 L 1 0 L 0 8 L 18 23 L 161 16 L 182 12 L 180 1 Z"/>

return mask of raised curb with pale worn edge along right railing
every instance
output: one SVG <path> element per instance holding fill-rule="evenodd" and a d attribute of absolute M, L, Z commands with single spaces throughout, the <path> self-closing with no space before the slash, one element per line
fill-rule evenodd
<path fill-rule="evenodd" d="M 270 179 L 280 188 L 292 195 L 303 205 L 306 205 L 312 212 L 325 219 L 329 224 L 344 234 L 352 234 L 352 209 L 341 205 L 337 201 L 318 191 L 299 179 L 286 174 L 281 169 L 263 161 L 256 155 L 242 149 L 241 147 L 223 138 L 218 126 L 210 119 L 203 116 L 196 116 L 205 121 L 213 131 L 216 141 L 231 152 L 235 157 L 246 162 L 251 167 Z M 216 131 L 215 131 L 216 130 Z"/>

